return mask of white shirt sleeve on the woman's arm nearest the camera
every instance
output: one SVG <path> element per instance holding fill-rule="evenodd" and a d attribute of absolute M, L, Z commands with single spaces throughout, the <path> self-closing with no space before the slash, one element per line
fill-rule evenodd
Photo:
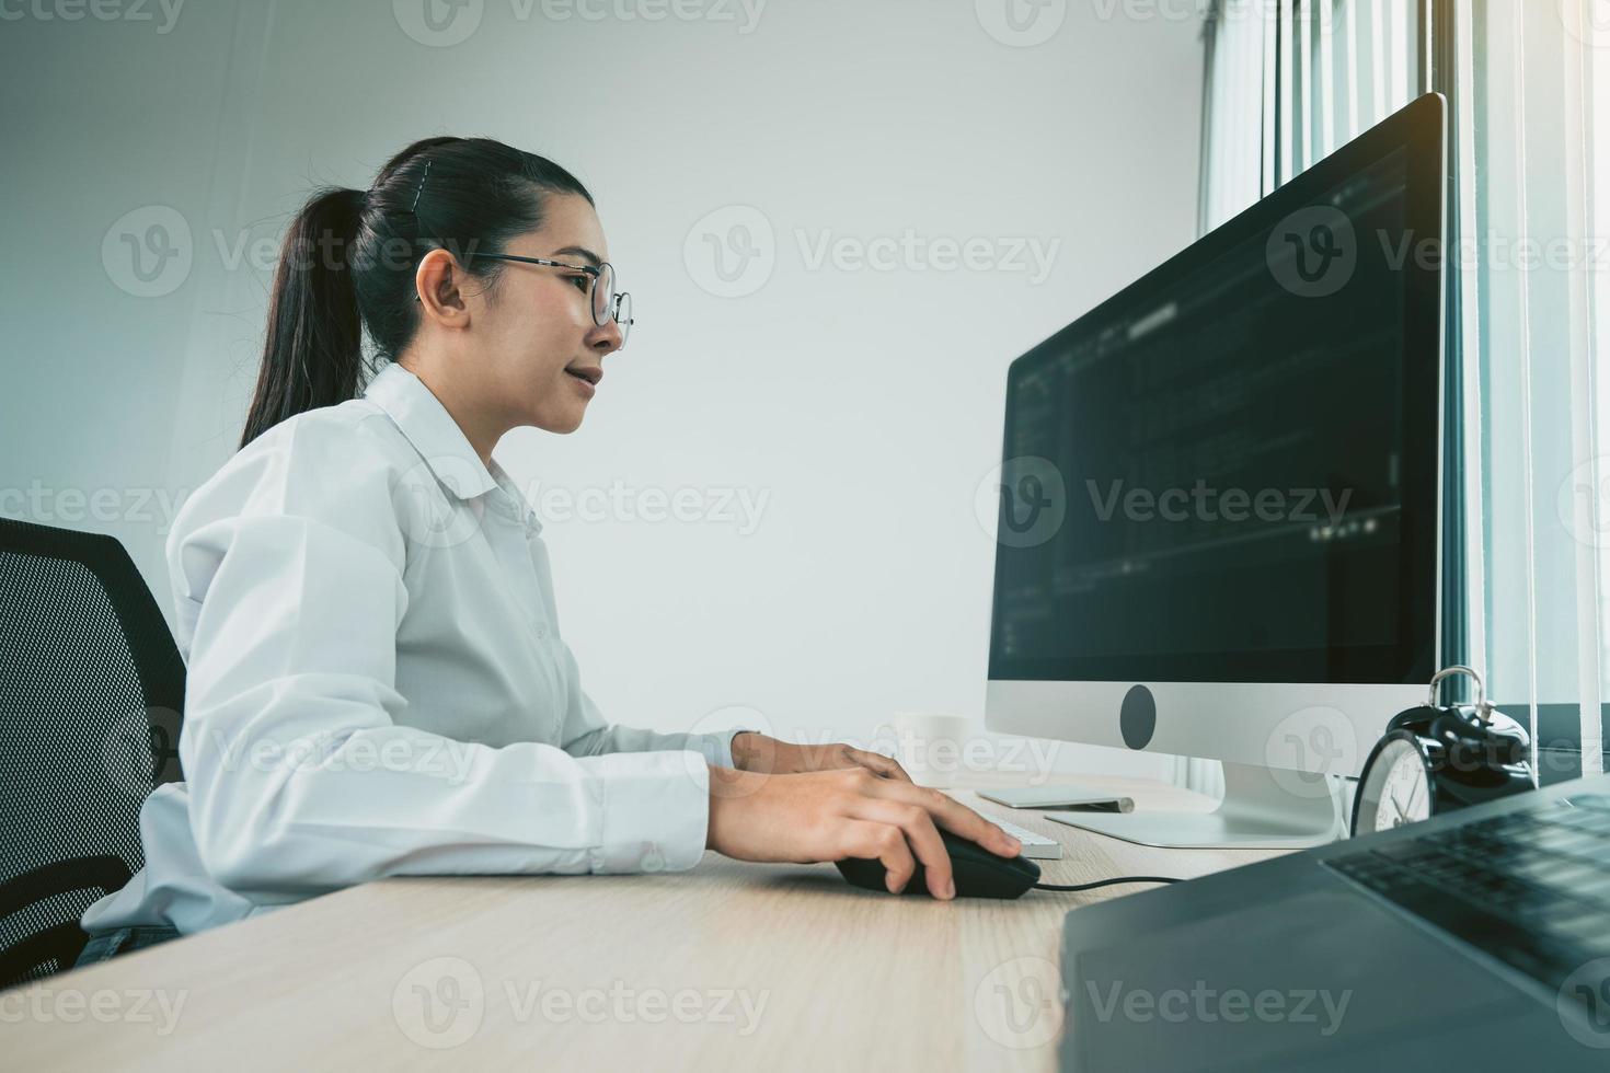
<path fill-rule="evenodd" d="M 267 902 L 386 875 L 699 862 L 708 767 L 694 753 L 575 756 L 399 726 L 409 597 L 401 541 L 377 521 L 396 524 L 385 475 L 365 483 L 346 457 L 354 476 L 332 487 L 328 467 L 306 473 L 288 455 L 258 475 L 277 489 L 272 508 L 193 499 L 169 542 L 193 623 L 179 748 L 196 849 L 219 883 Z"/>

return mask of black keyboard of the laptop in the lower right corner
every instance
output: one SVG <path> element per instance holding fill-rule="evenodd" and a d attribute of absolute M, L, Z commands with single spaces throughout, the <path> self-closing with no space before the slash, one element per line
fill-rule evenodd
<path fill-rule="evenodd" d="M 1581 795 L 1323 862 L 1558 988 L 1610 957 L 1610 795 Z"/>

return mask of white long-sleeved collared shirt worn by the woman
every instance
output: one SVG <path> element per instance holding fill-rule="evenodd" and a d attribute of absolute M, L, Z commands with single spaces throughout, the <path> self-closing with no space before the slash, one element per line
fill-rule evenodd
<path fill-rule="evenodd" d="M 699 862 L 723 734 L 605 724 L 541 523 L 414 373 L 274 426 L 167 539 L 185 782 L 87 930 L 188 935 L 385 875 Z"/>

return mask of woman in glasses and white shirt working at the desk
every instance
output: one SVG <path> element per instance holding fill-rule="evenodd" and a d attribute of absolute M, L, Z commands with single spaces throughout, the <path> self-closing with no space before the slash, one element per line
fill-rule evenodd
<path fill-rule="evenodd" d="M 240 452 L 167 539 L 188 661 L 145 869 L 82 962 L 385 875 L 919 859 L 1018 843 L 874 753 L 609 726 L 493 447 L 581 425 L 625 344 L 592 198 L 485 138 L 428 138 L 290 228 Z M 362 335 L 380 372 L 361 388 Z"/>

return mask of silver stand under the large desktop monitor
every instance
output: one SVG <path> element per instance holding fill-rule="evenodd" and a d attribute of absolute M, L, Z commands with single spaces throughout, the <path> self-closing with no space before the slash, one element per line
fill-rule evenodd
<path fill-rule="evenodd" d="M 1212 812 L 1137 808 L 1124 816 L 1048 812 L 1046 819 L 1169 849 L 1311 849 L 1341 838 L 1341 793 L 1330 775 L 1282 771 L 1280 779 L 1286 785 L 1270 767 L 1225 763 L 1224 801 Z"/>

